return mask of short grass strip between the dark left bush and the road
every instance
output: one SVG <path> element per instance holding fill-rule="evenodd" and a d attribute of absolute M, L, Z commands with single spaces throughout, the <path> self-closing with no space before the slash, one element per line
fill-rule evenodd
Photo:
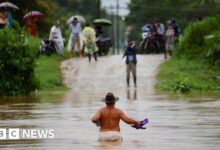
<path fill-rule="evenodd" d="M 62 83 L 60 63 L 65 56 L 40 56 L 37 59 L 36 76 L 40 81 L 40 93 L 65 92 L 68 88 Z"/>

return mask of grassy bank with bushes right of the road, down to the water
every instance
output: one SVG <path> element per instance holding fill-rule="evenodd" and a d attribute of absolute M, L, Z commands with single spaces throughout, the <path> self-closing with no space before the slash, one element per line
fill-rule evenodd
<path fill-rule="evenodd" d="M 159 91 L 220 90 L 220 16 L 191 24 L 173 57 L 161 65 Z"/>

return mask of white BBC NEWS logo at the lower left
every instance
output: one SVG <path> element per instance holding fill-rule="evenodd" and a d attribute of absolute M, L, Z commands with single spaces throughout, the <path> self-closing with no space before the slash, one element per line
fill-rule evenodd
<path fill-rule="evenodd" d="M 52 129 L 0 128 L 0 140 L 54 139 L 54 137 Z"/>

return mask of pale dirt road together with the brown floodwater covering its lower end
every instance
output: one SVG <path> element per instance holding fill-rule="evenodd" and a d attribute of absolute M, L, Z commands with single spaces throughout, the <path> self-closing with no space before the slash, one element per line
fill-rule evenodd
<path fill-rule="evenodd" d="M 53 129 L 54 139 L 0 140 L 0 149 L 15 150 L 219 150 L 220 100 L 155 95 L 155 74 L 162 55 L 138 56 L 137 88 L 126 88 L 121 56 L 67 60 L 62 64 L 63 95 L 1 98 L 0 128 Z M 131 82 L 132 83 L 132 82 Z M 122 143 L 97 142 L 91 116 L 104 104 L 107 92 L 120 97 L 116 106 L 129 116 L 149 119 L 146 130 L 121 122 Z"/>

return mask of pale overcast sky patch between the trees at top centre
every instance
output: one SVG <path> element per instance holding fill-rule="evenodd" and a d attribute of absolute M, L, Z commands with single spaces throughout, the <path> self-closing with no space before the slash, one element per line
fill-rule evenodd
<path fill-rule="evenodd" d="M 129 13 L 128 9 L 125 9 L 127 8 L 127 4 L 130 2 L 130 0 L 118 0 L 119 1 L 119 6 L 122 7 L 120 10 L 119 10 L 119 14 L 120 15 L 127 15 Z M 101 0 L 101 3 L 102 3 L 102 7 L 107 7 L 107 11 L 110 13 L 110 9 L 108 7 L 111 7 L 111 5 L 113 7 L 116 7 L 117 6 L 117 0 Z M 116 9 L 114 9 L 114 12 L 116 12 Z"/>

